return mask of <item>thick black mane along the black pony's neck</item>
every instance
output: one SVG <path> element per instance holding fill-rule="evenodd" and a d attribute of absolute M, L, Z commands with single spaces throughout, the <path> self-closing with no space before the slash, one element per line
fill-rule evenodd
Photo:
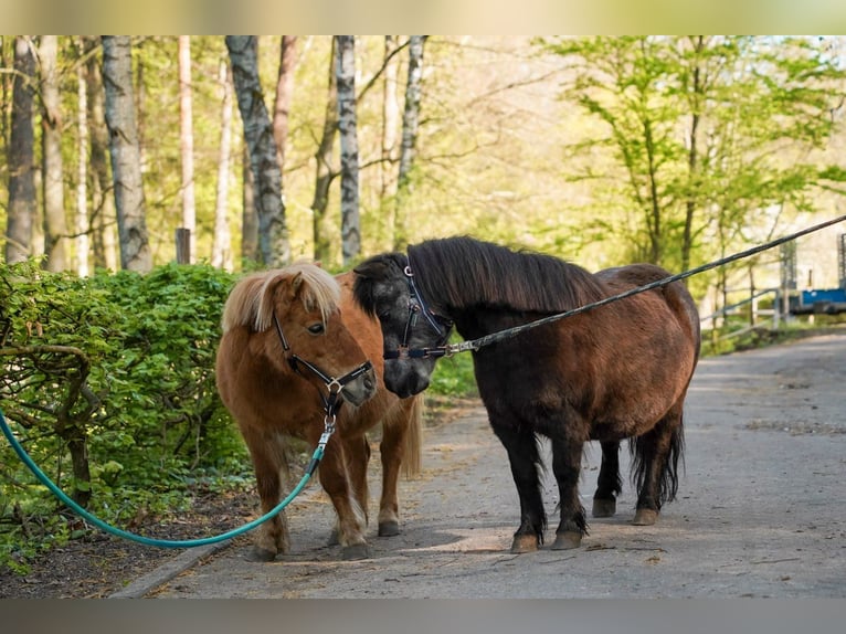
<path fill-rule="evenodd" d="M 551 314 L 605 296 L 602 283 L 581 266 L 473 237 L 429 240 L 408 253 L 415 283 L 435 311 L 487 306 Z"/>

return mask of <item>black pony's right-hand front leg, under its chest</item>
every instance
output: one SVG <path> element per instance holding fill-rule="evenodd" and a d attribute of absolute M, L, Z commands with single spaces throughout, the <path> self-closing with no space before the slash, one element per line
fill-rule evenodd
<path fill-rule="evenodd" d="M 552 472 L 561 497 L 561 522 L 556 530 L 552 550 L 579 548 L 582 537 L 588 535 L 584 508 L 579 500 L 582 446 L 583 443 L 574 438 L 552 438 Z"/>

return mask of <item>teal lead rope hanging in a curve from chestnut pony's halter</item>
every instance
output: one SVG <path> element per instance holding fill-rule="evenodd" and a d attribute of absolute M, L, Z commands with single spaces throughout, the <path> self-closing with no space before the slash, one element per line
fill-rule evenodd
<path fill-rule="evenodd" d="M 98 517 L 92 515 L 91 513 L 85 510 L 83 507 L 81 507 L 78 504 L 76 504 L 73 499 L 71 499 L 61 488 L 59 488 L 59 486 L 56 486 L 56 484 L 53 480 L 51 480 L 44 474 L 44 472 L 42 472 L 39 468 L 39 466 L 34 463 L 32 457 L 27 453 L 27 451 L 18 442 L 18 438 L 14 437 L 12 430 L 9 429 L 9 425 L 6 422 L 6 416 L 3 415 L 2 410 L 0 410 L 0 427 L 3 431 L 3 435 L 12 445 L 14 453 L 17 453 L 18 457 L 20 457 L 21 461 L 23 461 L 23 464 L 25 464 L 30 468 L 30 471 L 35 475 L 35 477 L 39 478 L 39 480 L 41 480 L 41 483 L 44 486 L 46 486 L 53 493 L 53 495 L 55 495 L 71 510 L 73 510 L 76 515 L 78 515 L 83 519 L 89 521 L 97 528 L 101 528 L 102 530 L 105 530 L 106 532 L 109 532 L 116 537 L 120 537 L 123 539 L 128 539 L 131 541 L 137 541 L 138 543 L 144 543 L 146 546 L 157 546 L 159 548 L 195 548 L 198 546 L 208 546 L 211 543 L 219 543 L 221 541 L 225 541 L 228 539 L 237 537 L 239 535 L 243 535 L 250 530 L 253 530 L 254 528 L 258 527 L 261 524 L 274 517 L 286 506 L 288 506 L 294 500 L 294 498 L 297 497 L 297 495 L 299 495 L 299 492 L 302 492 L 305 488 L 306 483 L 308 483 L 311 475 L 314 475 L 315 471 L 317 469 L 317 465 L 320 463 L 320 459 L 324 457 L 324 450 L 326 448 L 326 443 L 329 442 L 329 436 L 331 436 L 332 432 L 335 432 L 335 416 L 326 418 L 326 429 L 322 435 L 320 436 L 320 442 L 317 443 L 315 453 L 311 455 L 311 462 L 308 463 L 308 467 L 306 467 L 305 475 L 299 480 L 299 484 L 297 484 L 297 486 L 294 487 L 294 490 L 292 490 L 290 494 L 288 494 L 288 497 L 283 499 L 278 505 L 276 505 L 272 510 L 269 510 L 262 517 L 254 519 L 253 521 L 250 521 L 245 524 L 244 526 L 241 526 L 240 528 L 235 528 L 233 530 L 218 535 L 216 537 L 205 537 L 202 539 L 181 539 L 181 540 L 154 539 L 151 537 L 145 537 L 142 535 L 137 535 L 135 532 L 121 530 L 117 527 L 112 526 L 110 524 L 103 521 Z"/>

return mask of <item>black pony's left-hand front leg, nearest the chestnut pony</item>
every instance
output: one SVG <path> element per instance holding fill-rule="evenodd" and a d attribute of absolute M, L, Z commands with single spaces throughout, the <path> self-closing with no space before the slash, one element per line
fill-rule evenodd
<path fill-rule="evenodd" d="M 543 543 L 547 514 L 540 494 L 538 443 L 535 434 L 520 425 L 496 425 L 494 433 L 508 452 L 511 476 L 520 497 L 520 527 L 514 533 L 511 552 L 531 552 Z"/>

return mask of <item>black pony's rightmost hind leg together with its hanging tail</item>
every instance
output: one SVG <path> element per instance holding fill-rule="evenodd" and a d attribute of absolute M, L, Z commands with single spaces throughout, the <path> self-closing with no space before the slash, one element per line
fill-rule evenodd
<path fill-rule="evenodd" d="M 678 461 L 684 452 L 681 403 L 677 403 L 647 433 L 632 440 L 632 475 L 637 485 L 637 507 L 632 524 L 652 526 L 665 501 L 678 489 Z"/>

